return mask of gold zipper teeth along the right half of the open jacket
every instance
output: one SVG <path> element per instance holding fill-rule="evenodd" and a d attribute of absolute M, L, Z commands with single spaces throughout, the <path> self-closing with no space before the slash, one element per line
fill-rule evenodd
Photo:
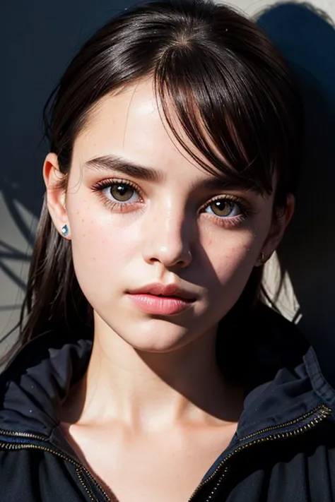
<path fill-rule="evenodd" d="M 265 429 L 261 429 L 260 431 L 257 431 L 257 433 L 249 434 L 249 436 L 245 436 L 244 438 L 241 438 L 240 441 L 244 441 L 246 438 L 250 438 L 252 436 L 259 435 L 259 434 L 264 433 L 266 431 L 272 431 L 274 429 L 282 429 L 283 427 L 288 426 L 290 424 L 297 424 L 298 422 L 301 422 L 301 420 L 303 420 L 307 417 L 310 417 L 312 414 L 315 414 L 316 412 L 319 412 L 319 415 L 317 415 L 317 417 L 315 417 L 315 419 L 312 419 L 310 422 L 308 422 L 308 424 L 300 426 L 300 427 L 298 427 L 298 429 L 295 429 L 294 431 L 279 432 L 278 434 L 270 434 L 269 436 L 266 436 L 264 438 L 254 439 L 253 441 L 249 441 L 249 443 L 245 443 L 244 445 L 237 446 L 237 448 L 235 448 L 235 450 L 233 450 L 223 460 L 221 460 L 221 462 L 217 465 L 216 469 L 210 474 L 210 476 L 208 476 L 203 482 L 201 482 L 196 487 L 192 496 L 189 498 L 188 502 L 192 502 L 192 499 L 194 498 L 194 496 L 196 496 L 198 491 L 203 486 L 205 486 L 208 482 L 210 482 L 211 479 L 213 479 L 213 477 L 215 477 L 216 474 L 218 474 L 218 472 L 222 469 L 223 465 L 225 465 L 225 463 L 228 462 L 228 460 L 230 460 L 230 458 L 232 458 L 234 455 L 236 455 L 236 453 L 239 453 L 240 451 L 245 450 L 246 448 L 249 448 L 249 446 L 253 446 L 254 444 L 265 443 L 266 441 L 274 441 L 274 440 L 280 439 L 280 438 L 286 439 L 286 438 L 293 438 L 295 436 L 299 436 L 300 434 L 307 432 L 310 429 L 312 429 L 313 427 L 315 427 L 317 424 L 319 424 L 319 422 L 322 422 L 322 420 L 326 419 L 329 416 L 329 414 L 331 414 L 332 411 L 326 405 L 323 405 L 323 404 L 318 405 L 317 407 L 313 408 L 313 410 L 311 410 L 308 413 L 305 413 L 304 415 L 301 415 L 297 419 L 290 420 L 290 422 L 285 422 L 285 424 L 281 424 L 278 426 L 266 427 Z M 218 487 L 220 486 L 220 484 L 221 484 L 223 478 L 225 477 L 225 474 L 227 474 L 227 472 L 228 472 L 228 467 L 225 467 L 222 474 L 218 478 L 218 481 L 216 482 L 215 486 L 213 486 L 211 493 L 206 498 L 205 502 L 210 502 L 211 499 L 213 498 L 213 496 L 215 496 L 216 491 L 218 490 Z"/>

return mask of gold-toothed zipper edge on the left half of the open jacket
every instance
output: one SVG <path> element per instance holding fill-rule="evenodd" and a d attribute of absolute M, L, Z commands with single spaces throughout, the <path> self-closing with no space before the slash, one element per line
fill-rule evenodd
<path fill-rule="evenodd" d="M 0 431 L 0 432 L 2 433 L 3 431 Z M 24 433 L 24 432 L 9 433 L 8 431 L 6 431 L 6 436 L 24 436 L 24 437 L 40 439 L 40 440 L 43 438 L 43 436 L 37 436 L 35 434 L 29 434 L 29 433 Z M 43 438 L 43 441 L 46 441 L 45 438 Z M 57 457 L 62 458 L 63 460 L 67 460 L 67 462 L 70 462 L 72 465 L 74 465 L 76 467 L 76 474 L 78 476 L 79 482 L 83 485 L 83 487 L 84 487 L 84 489 L 85 489 L 86 493 L 88 494 L 88 497 L 90 498 L 91 501 L 97 502 L 98 499 L 95 497 L 93 492 L 88 488 L 87 484 L 84 482 L 81 472 L 85 472 L 87 474 L 87 476 L 93 481 L 95 486 L 97 486 L 97 488 L 99 489 L 101 494 L 105 497 L 105 500 L 107 502 L 111 502 L 110 497 L 107 495 L 106 491 L 102 488 L 102 486 L 100 486 L 98 481 L 93 477 L 93 474 L 91 474 L 90 471 L 88 469 L 86 469 L 85 466 L 81 465 L 81 463 L 76 462 L 76 460 L 74 460 L 73 458 L 71 458 L 67 455 L 64 455 L 63 453 L 60 453 L 57 450 L 52 450 L 52 448 L 47 448 L 47 446 L 34 445 L 33 443 L 28 443 L 28 444 L 0 443 L 0 448 L 4 448 L 6 450 L 23 450 L 23 449 L 32 448 L 35 450 L 43 450 L 43 451 L 47 451 L 48 453 L 53 453 L 54 455 L 57 455 Z"/>

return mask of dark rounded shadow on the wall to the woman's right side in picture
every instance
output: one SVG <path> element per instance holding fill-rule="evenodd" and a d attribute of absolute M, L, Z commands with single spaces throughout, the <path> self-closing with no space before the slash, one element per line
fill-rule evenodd
<path fill-rule="evenodd" d="M 297 208 L 278 249 L 300 305 L 299 327 L 335 384 L 335 30 L 308 4 L 276 4 L 258 24 L 298 76 L 305 102 L 305 149 Z"/>

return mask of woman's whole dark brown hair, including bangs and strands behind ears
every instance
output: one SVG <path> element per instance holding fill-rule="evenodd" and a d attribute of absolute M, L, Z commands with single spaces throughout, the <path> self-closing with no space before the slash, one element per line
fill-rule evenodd
<path fill-rule="evenodd" d="M 300 162 L 295 84 L 252 20 L 208 0 L 138 4 L 83 45 L 45 107 L 50 150 L 62 173 L 69 173 L 74 140 L 92 107 L 141 78 L 153 78 L 167 124 L 199 165 L 264 196 L 276 172 L 275 209 L 285 207 Z M 172 112 L 195 149 L 178 136 Z M 255 268 L 233 312 L 254 304 L 260 280 Z M 92 335 L 93 313 L 76 280 L 69 241 L 54 228 L 44 201 L 15 348 L 46 330 Z"/>

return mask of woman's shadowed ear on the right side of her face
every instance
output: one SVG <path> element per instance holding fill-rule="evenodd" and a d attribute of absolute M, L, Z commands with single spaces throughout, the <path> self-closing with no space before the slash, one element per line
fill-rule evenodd
<path fill-rule="evenodd" d="M 269 234 L 267 234 L 264 244 L 261 249 L 261 255 L 256 265 L 264 265 L 269 260 L 270 256 L 276 251 L 283 234 L 288 226 L 295 208 L 295 197 L 292 193 L 288 194 L 286 208 L 280 215 L 274 214 L 272 218 Z"/>

